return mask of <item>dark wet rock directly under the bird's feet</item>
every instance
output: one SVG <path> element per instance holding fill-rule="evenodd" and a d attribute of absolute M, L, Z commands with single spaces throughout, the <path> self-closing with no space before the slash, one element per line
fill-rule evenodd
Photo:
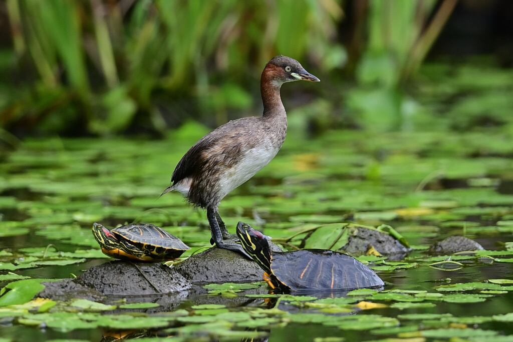
<path fill-rule="evenodd" d="M 282 249 L 269 244 L 271 250 L 281 252 Z M 195 254 L 175 270 L 191 283 L 243 283 L 260 281 L 264 271 L 252 260 L 243 255 L 212 247 L 204 252 Z"/>

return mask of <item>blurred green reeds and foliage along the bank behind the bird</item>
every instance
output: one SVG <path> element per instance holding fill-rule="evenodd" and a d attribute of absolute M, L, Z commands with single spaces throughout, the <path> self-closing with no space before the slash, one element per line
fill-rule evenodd
<path fill-rule="evenodd" d="M 346 13 L 348 3 L 6 0 L 12 49 L 0 50 L 0 137 L 163 132 L 191 118 L 213 126 L 258 115 L 260 71 L 276 54 L 323 80 L 310 91 L 324 100 L 295 119 L 314 133 L 511 123 L 510 72 L 486 61 L 442 73 L 423 66 L 456 0 L 369 0 Z M 341 42 L 349 15 L 364 32 L 352 38 L 361 54 Z M 465 78 L 483 86 L 466 89 Z M 312 98 L 292 104 L 302 97 Z"/>

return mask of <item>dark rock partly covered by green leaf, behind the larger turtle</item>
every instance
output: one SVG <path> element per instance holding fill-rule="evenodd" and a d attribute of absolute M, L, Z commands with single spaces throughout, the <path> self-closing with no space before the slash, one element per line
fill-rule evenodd
<path fill-rule="evenodd" d="M 374 247 L 380 254 L 401 258 L 409 252 L 409 249 L 386 233 L 379 231 L 356 228 L 349 236 L 348 243 L 341 248 L 350 254 L 365 254 L 369 247 Z"/>

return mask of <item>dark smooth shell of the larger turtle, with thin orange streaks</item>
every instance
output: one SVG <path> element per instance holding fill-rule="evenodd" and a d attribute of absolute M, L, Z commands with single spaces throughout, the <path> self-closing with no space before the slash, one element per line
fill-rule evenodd
<path fill-rule="evenodd" d="M 271 277 L 290 290 L 352 290 L 384 285 L 383 280 L 350 255 L 324 249 L 271 253 Z"/>

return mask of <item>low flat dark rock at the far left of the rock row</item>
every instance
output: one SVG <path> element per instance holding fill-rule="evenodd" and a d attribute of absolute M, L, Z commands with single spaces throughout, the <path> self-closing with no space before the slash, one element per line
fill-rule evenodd
<path fill-rule="evenodd" d="M 73 279 L 63 279 L 42 284 L 45 286 L 45 289 L 41 291 L 37 297 L 62 301 L 73 298 L 82 298 L 92 301 L 101 301 L 105 299 L 100 292 L 88 288 L 87 286 L 77 284 Z"/>

